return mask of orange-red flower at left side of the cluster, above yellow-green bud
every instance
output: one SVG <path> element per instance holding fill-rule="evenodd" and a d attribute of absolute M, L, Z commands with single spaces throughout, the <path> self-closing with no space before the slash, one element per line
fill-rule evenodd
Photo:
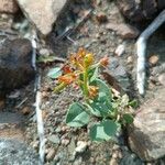
<path fill-rule="evenodd" d="M 74 73 L 72 73 L 72 74 L 67 74 L 67 75 L 64 75 L 64 76 L 59 76 L 58 81 L 69 85 L 74 80 L 76 80 L 76 78 L 77 78 L 77 76 Z"/>

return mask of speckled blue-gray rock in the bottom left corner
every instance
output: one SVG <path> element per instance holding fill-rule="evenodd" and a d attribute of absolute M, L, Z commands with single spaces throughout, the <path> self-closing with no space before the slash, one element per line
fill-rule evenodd
<path fill-rule="evenodd" d="M 0 165 L 37 165 L 38 156 L 23 142 L 0 139 Z"/>

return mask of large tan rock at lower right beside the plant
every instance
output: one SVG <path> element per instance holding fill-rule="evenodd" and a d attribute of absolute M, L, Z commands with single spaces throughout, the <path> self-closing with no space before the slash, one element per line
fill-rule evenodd
<path fill-rule="evenodd" d="M 165 156 L 165 88 L 138 111 L 129 129 L 129 143 L 142 160 Z"/>

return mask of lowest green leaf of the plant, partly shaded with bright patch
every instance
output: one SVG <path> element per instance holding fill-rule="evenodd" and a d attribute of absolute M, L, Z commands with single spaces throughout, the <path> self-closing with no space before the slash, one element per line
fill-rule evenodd
<path fill-rule="evenodd" d="M 90 128 L 89 135 L 92 141 L 109 141 L 114 139 L 119 124 L 112 120 L 106 120 Z"/>

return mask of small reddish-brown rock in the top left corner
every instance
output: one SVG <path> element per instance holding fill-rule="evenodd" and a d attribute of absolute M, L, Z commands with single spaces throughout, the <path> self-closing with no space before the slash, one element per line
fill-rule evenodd
<path fill-rule="evenodd" d="M 15 0 L 0 0 L 0 13 L 16 13 L 18 10 Z"/>

